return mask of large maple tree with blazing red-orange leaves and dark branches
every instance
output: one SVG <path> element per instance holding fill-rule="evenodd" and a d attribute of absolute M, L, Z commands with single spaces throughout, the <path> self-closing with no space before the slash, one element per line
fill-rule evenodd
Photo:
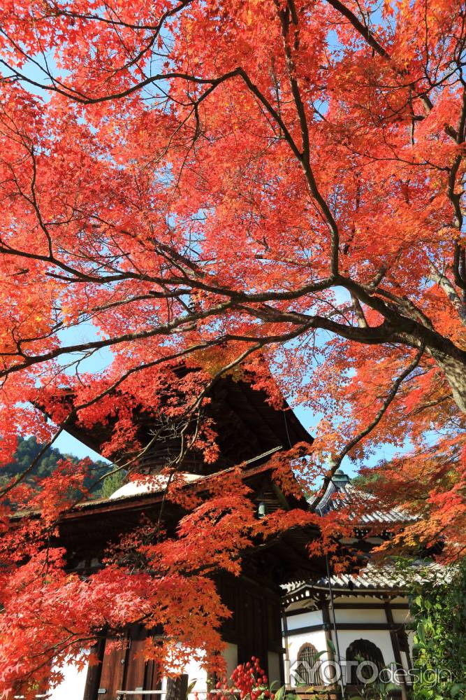
<path fill-rule="evenodd" d="M 112 454 L 136 405 L 186 421 L 182 449 L 212 462 L 199 409 L 222 374 L 247 371 L 277 405 L 279 388 L 324 416 L 305 462 L 324 486 L 344 457 L 408 446 L 382 465 L 379 498 L 418 516 L 400 538 L 441 535 L 459 556 L 465 22 L 459 0 L 4 1 L 3 463 L 18 434 L 50 443 L 110 414 Z M 228 504 L 214 489 L 179 540 L 145 551 L 163 576 L 128 577 L 116 559 L 82 581 L 44 542 L 89 465 L 62 464 L 39 492 L 34 467 L 1 491 L 1 689 L 54 682 L 50 659 L 78 659 L 141 601 L 191 648 L 218 644 L 168 582 L 225 614 L 200 562 L 222 542 L 210 566 L 236 570 L 257 534 L 240 479 Z M 12 530 L 13 507 L 43 519 Z"/>

